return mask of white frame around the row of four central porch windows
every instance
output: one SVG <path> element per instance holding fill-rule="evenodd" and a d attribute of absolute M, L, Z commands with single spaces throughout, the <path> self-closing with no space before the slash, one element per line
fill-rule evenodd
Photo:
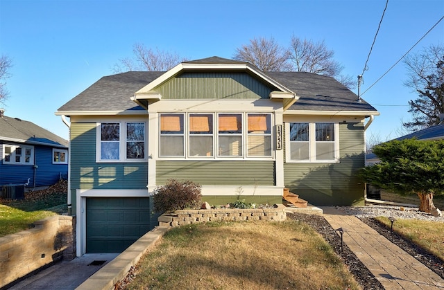
<path fill-rule="evenodd" d="M 189 117 L 191 115 L 196 116 L 196 115 L 212 115 L 213 118 L 213 130 L 212 130 L 212 134 L 196 134 L 196 135 L 191 135 L 189 134 L 190 132 L 190 125 L 189 125 Z M 241 115 L 241 122 L 242 122 L 242 127 L 241 127 L 241 133 L 239 134 L 219 134 L 219 115 Z M 271 130 L 269 133 L 250 133 L 248 134 L 248 115 L 249 114 L 253 114 L 253 115 L 269 115 L 270 116 L 270 127 Z M 161 144 L 161 137 L 162 136 L 181 136 L 183 139 L 183 144 L 184 144 L 184 148 L 183 148 L 183 152 L 184 154 L 182 156 L 162 156 L 160 154 L 160 149 L 157 152 L 157 158 L 159 158 L 159 160 L 241 160 L 241 159 L 248 159 L 248 160 L 273 160 L 273 158 L 275 158 L 275 140 L 273 138 L 273 128 L 274 128 L 274 116 L 273 113 L 271 112 L 257 112 L 257 111 L 248 111 L 248 112 L 242 112 L 242 111 L 199 111 L 199 112 L 184 112 L 184 113 L 179 113 L 178 115 L 183 116 L 183 122 L 184 122 L 184 129 L 183 129 L 183 133 L 180 134 L 162 134 L 161 133 L 161 116 L 162 115 L 175 115 L 175 113 L 171 113 L 168 111 L 165 112 L 159 112 L 158 113 L 158 124 L 157 124 L 157 130 L 159 132 L 158 137 L 157 137 L 157 147 L 160 148 L 162 146 Z M 248 136 L 270 136 L 271 138 L 271 154 L 269 156 L 248 156 Z M 210 156 L 190 156 L 189 154 L 189 138 L 190 136 L 212 136 L 213 138 L 213 152 L 212 154 L 210 154 Z M 220 136 L 240 136 L 241 138 L 241 152 L 239 154 L 239 156 L 234 155 L 234 156 L 225 156 L 225 155 L 221 155 L 219 152 L 219 137 Z"/>

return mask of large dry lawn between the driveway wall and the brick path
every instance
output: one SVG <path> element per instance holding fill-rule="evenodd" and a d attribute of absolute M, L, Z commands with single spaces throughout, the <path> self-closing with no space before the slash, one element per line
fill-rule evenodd
<path fill-rule="evenodd" d="M 359 289 L 332 248 L 298 221 L 171 229 L 127 289 Z"/>

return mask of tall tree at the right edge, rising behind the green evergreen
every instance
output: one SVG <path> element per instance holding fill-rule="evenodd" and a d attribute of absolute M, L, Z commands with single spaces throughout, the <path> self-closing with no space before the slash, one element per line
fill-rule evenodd
<path fill-rule="evenodd" d="M 402 123 L 417 131 L 440 123 L 444 113 L 444 46 L 432 45 L 420 53 L 406 57 L 408 80 L 404 85 L 418 93 L 416 100 L 409 100 L 409 113 L 413 119 Z"/>

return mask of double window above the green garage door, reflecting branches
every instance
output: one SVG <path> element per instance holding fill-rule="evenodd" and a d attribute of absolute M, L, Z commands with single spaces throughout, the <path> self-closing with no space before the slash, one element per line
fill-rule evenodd
<path fill-rule="evenodd" d="M 144 161 L 146 123 L 99 123 L 97 161 Z"/>

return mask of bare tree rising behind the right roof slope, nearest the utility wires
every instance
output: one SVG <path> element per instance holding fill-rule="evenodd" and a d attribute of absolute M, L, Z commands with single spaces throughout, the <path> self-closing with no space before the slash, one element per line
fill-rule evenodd
<path fill-rule="evenodd" d="M 349 89 L 356 87 L 357 82 L 350 75 L 341 75 L 344 67 L 333 59 L 334 51 L 330 51 L 325 42 L 312 42 L 300 39 L 293 35 L 291 37 L 291 54 L 289 60 L 293 63 L 296 71 L 306 71 L 319 75 L 328 75 L 336 78 L 341 84 Z"/>

